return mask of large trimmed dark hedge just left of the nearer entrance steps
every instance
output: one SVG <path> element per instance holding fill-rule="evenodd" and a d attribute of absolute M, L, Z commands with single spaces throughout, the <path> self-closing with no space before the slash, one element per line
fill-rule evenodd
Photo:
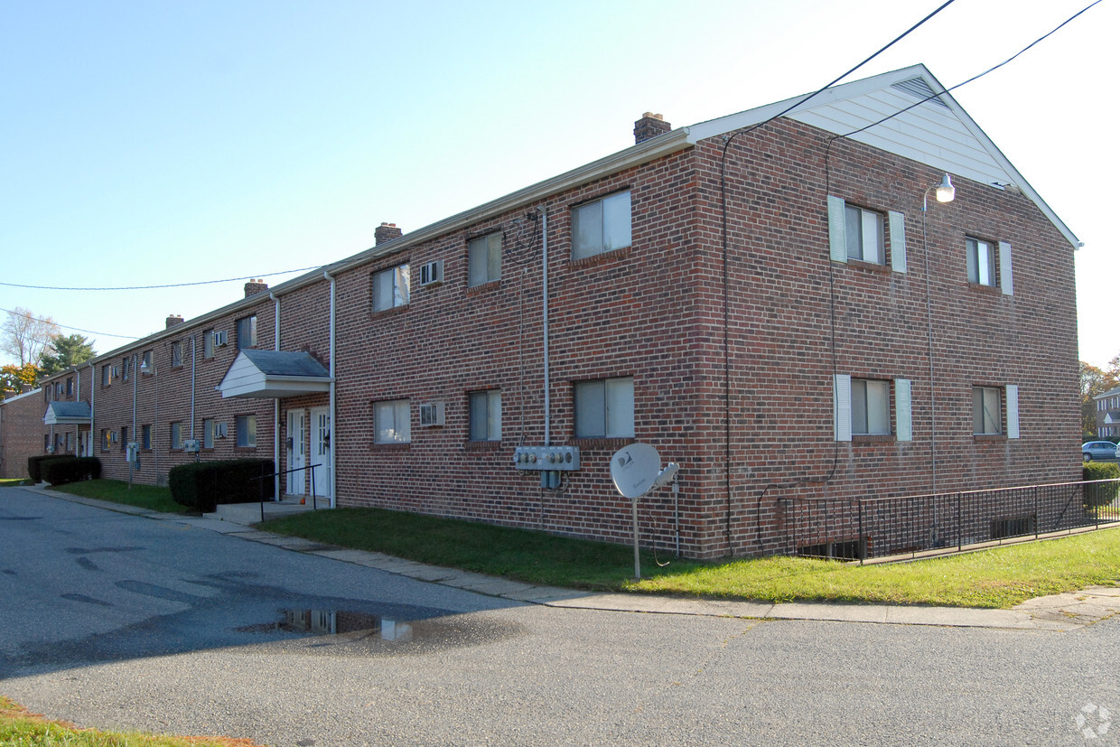
<path fill-rule="evenodd" d="M 203 513 L 220 503 L 256 503 L 272 497 L 272 480 L 253 479 L 271 475 L 271 459 L 197 461 L 172 467 L 167 474 L 171 499 Z"/>

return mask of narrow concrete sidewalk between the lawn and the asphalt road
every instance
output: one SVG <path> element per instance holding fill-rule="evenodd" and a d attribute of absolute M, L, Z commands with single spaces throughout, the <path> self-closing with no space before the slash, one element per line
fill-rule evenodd
<path fill-rule="evenodd" d="M 38 486 L 24 486 L 73 503 L 106 511 L 143 516 L 157 521 L 220 532 L 251 542 L 271 544 L 292 552 L 323 555 L 342 562 L 376 568 L 419 581 L 441 583 L 467 591 L 502 597 L 548 607 L 603 609 L 610 611 L 663 615 L 708 615 L 752 619 L 827 620 L 843 623 L 877 623 L 890 625 L 937 625 L 944 627 L 988 627 L 1024 631 L 1068 632 L 1091 625 L 1120 613 L 1120 588 L 1093 587 L 1083 591 L 1029 599 L 1012 609 L 973 609 L 967 607 L 922 607 L 904 605 L 869 605 L 840 603 L 792 601 L 720 601 L 659 597 L 641 594 L 596 594 L 549 586 L 533 586 L 483 573 L 426 566 L 393 558 L 380 552 L 348 550 L 302 538 L 261 532 L 252 526 L 215 519 L 164 514 L 119 503 L 56 493 Z"/>

